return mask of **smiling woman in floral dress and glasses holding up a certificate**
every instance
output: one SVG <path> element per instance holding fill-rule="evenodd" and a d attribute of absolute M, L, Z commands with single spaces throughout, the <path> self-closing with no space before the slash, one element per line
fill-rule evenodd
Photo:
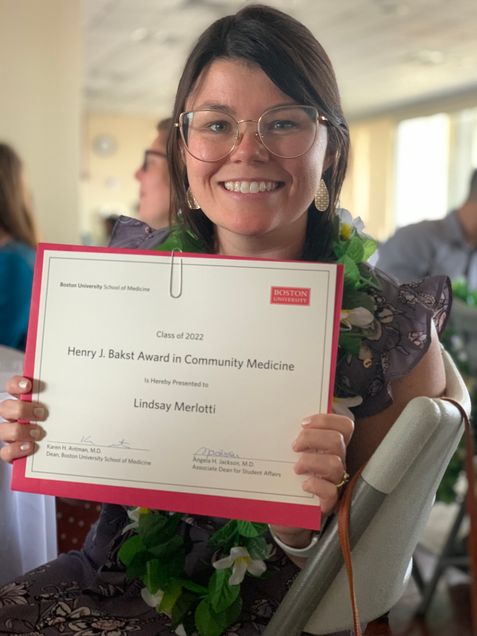
<path fill-rule="evenodd" d="M 170 136 L 168 151 L 171 208 L 181 210 L 178 228 L 169 234 L 122 219 L 113 234 L 114 245 L 190 247 L 192 234 L 199 251 L 223 255 L 337 257 L 333 218 L 346 169 L 348 128 L 328 57 L 303 25 L 261 6 L 249 6 L 212 24 L 186 63 L 173 117 L 178 134 Z M 303 488 L 320 497 L 324 514 L 334 511 L 348 472 L 372 453 L 405 404 L 416 395 L 437 396 L 445 389 L 432 324 L 435 307 L 445 314 L 445 280 L 400 289 L 364 266 L 359 271 L 356 275 L 374 316 L 359 354 L 341 357 L 336 387 L 337 394 L 353 396 L 351 402 L 359 405 L 356 429 L 353 434 L 353 419 L 346 415 L 304 413 L 293 445 L 294 470 L 305 475 Z M 356 315 L 347 313 L 350 328 Z M 8 386 L 14 395 L 29 388 L 30 381 L 20 377 Z M 17 420 L 44 419 L 44 411 L 33 414 L 36 408 L 42 409 L 15 401 L 0 407 L 10 420 L 0 433 L 10 442 L 0 451 L 3 459 L 34 451 L 32 432 L 42 434 L 41 429 L 37 424 L 20 427 Z M 131 525 L 137 526 L 138 514 L 131 515 Z M 204 612 L 191 616 L 184 610 L 176 620 L 176 600 L 180 596 L 181 603 L 188 602 L 189 592 L 176 588 L 174 595 L 169 589 L 164 597 L 160 585 L 152 584 L 142 596 L 158 607 L 156 613 L 139 596 L 142 584 L 125 581 L 117 555 L 119 549 L 122 560 L 131 564 L 121 547 L 127 522 L 120 507 L 105 506 L 84 551 L 62 555 L 12 584 L 11 594 L 22 604 L 0 610 L 0 631 L 77 633 L 81 628 L 92 630 L 96 621 L 114 625 L 118 634 L 172 634 L 177 625 L 177 633 L 191 634 L 203 619 L 207 625 L 216 621 L 215 631 L 210 627 L 209 632 L 201 623 L 204 634 L 259 634 L 315 541 L 308 530 L 272 527 L 279 548 L 267 560 L 270 576 L 245 578 L 241 612 L 235 613 L 234 605 L 231 619 L 219 610 L 214 614 L 210 607 L 204 610 L 205 618 Z M 217 520 L 187 518 L 178 526 L 175 535 L 187 539 L 188 576 L 210 561 L 213 546 L 207 540 L 217 525 Z M 224 561 L 215 566 L 220 569 Z M 253 565 L 250 559 L 247 563 Z M 159 579 L 165 576 L 163 571 L 155 574 Z M 194 591 L 192 586 L 189 591 Z M 1 594 L 0 590 L 0 599 Z M 172 615 L 174 626 L 165 612 Z M 106 628 L 84 633 L 106 633 Z"/>

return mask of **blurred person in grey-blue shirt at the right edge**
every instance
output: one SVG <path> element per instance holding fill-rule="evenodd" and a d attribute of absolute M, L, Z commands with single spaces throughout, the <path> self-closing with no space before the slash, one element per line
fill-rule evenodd
<path fill-rule="evenodd" d="M 446 274 L 477 290 L 477 170 L 459 208 L 443 219 L 398 229 L 380 246 L 377 266 L 402 283 Z"/>

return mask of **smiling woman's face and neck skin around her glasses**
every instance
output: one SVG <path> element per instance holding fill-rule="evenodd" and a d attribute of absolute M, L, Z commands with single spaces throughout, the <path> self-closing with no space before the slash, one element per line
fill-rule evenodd
<path fill-rule="evenodd" d="M 237 121 L 256 121 L 269 108 L 295 103 L 258 66 L 220 59 L 204 71 L 186 110 L 214 108 Z M 319 126 L 310 150 L 293 159 L 271 154 L 256 137 L 255 123 L 241 124 L 240 130 L 240 143 L 220 161 L 206 163 L 183 153 L 192 193 L 216 225 L 219 250 L 224 253 L 231 243 L 244 245 L 251 240 L 257 247 L 260 241 L 268 245 L 298 241 L 301 246 L 307 209 L 321 178 L 326 127 Z M 253 182 L 258 192 L 257 186 L 250 187 Z"/>

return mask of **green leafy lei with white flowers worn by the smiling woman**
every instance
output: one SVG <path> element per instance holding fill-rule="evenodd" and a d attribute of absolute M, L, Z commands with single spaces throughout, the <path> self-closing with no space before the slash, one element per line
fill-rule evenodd
<path fill-rule="evenodd" d="M 364 266 L 376 250 L 376 243 L 363 232 L 360 219 L 353 221 L 346 210 L 338 210 L 332 227 L 333 261 L 344 265 L 339 357 L 358 355 L 367 329 L 375 317 L 369 291 L 374 286 L 370 269 Z M 159 246 L 162 251 L 178 249 L 204 252 L 198 239 L 183 228 L 175 228 Z M 352 417 L 349 407 L 362 402 L 360 396 L 334 398 L 334 411 Z M 192 542 L 178 533 L 187 515 L 147 508 L 128 511 L 131 523 L 123 532 L 134 530 L 122 544 L 118 556 L 128 578 L 144 583 L 143 600 L 158 613 L 166 614 L 180 636 L 220 636 L 239 619 L 240 595 L 245 575 L 262 576 L 273 547 L 267 542 L 268 527 L 262 523 L 231 520 L 214 532 L 208 546 L 212 563 L 205 576 L 191 579 L 185 559 Z"/>

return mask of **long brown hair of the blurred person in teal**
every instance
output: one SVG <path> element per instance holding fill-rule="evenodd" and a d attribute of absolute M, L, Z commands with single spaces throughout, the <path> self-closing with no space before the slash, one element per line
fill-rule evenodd
<path fill-rule="evenodd" d="M 0 230 L 16 241 L 36 247 L 38 240 L 23 182 L 20 157 L 0 143 Z"/>

